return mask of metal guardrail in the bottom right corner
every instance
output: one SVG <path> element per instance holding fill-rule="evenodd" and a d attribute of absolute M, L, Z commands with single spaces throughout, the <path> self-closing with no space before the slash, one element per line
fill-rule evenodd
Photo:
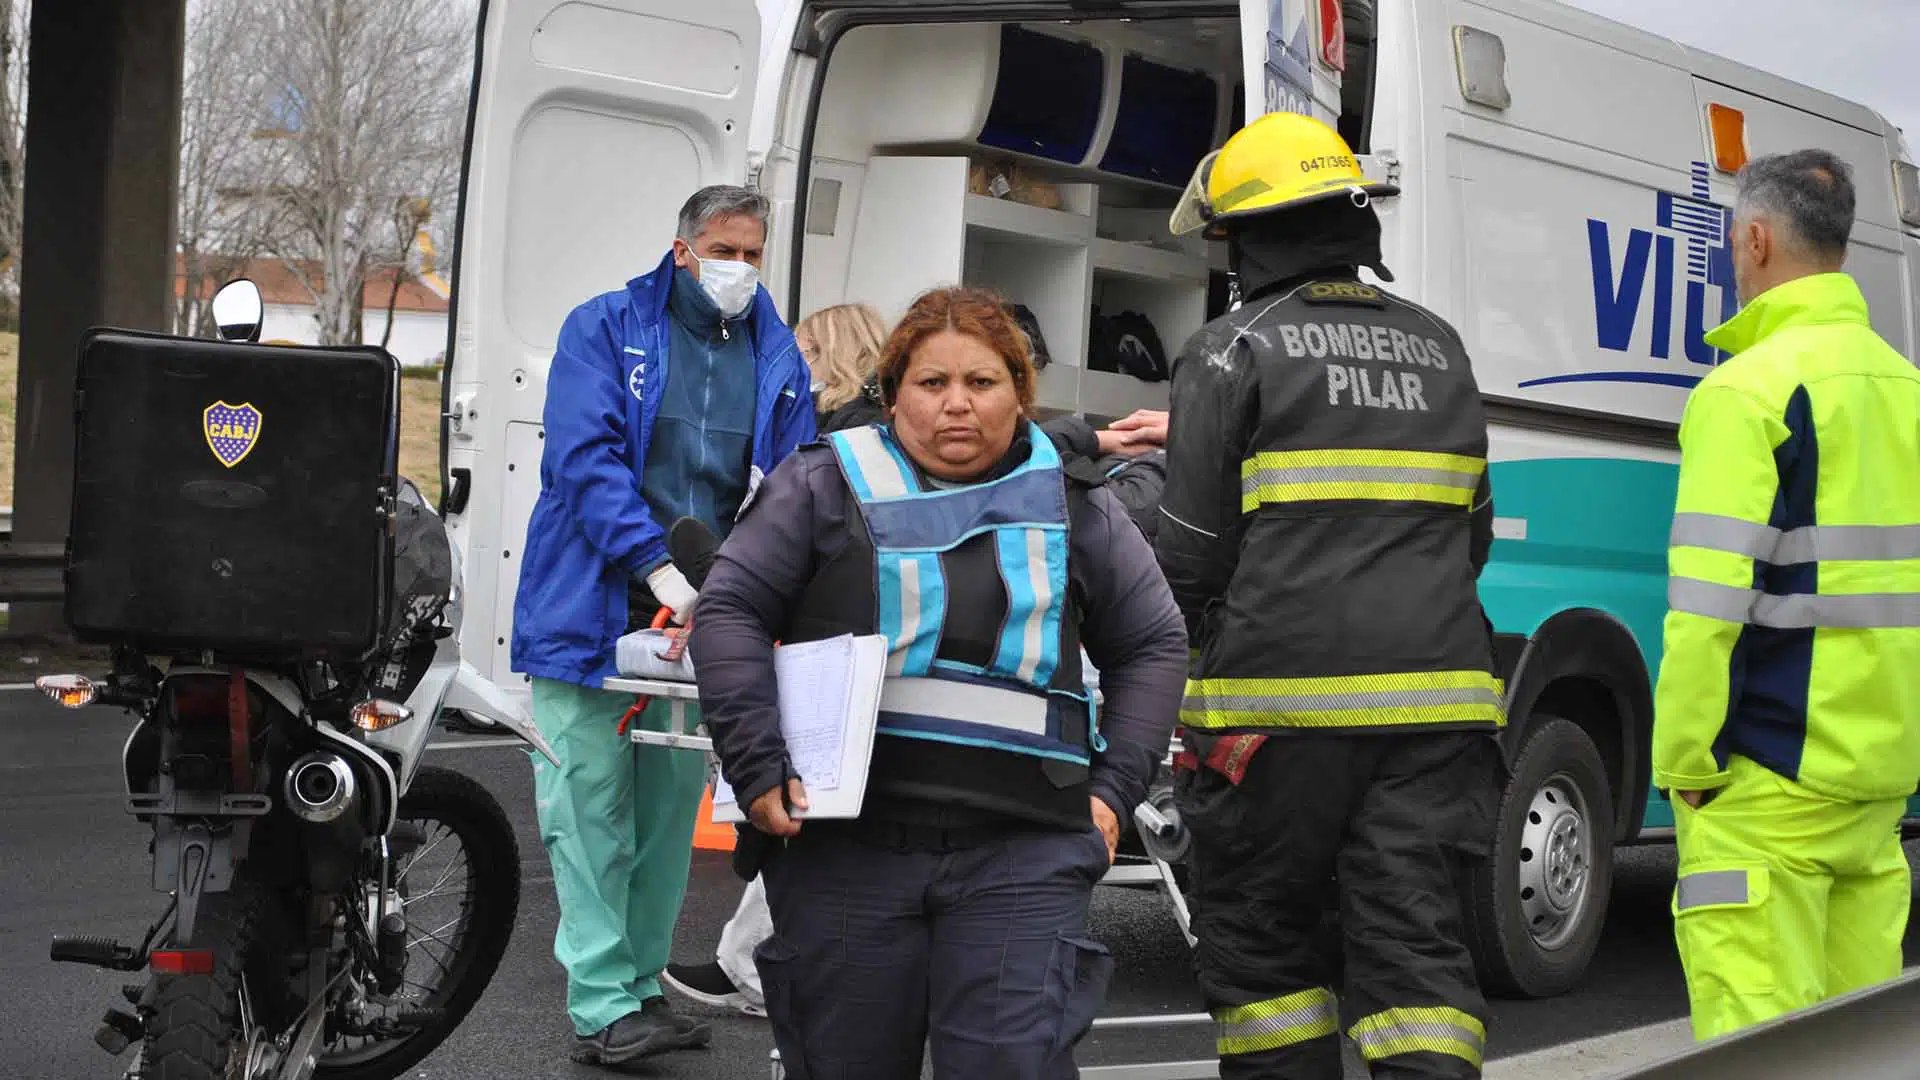
<path fill-rule="evenodd" d="M 1615 1080 L 1912 1080 L 1920 1076 L 1920 970 L 1701 1043 Z"/>

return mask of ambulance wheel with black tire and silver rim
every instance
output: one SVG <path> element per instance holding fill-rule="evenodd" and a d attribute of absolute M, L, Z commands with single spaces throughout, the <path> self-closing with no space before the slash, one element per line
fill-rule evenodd
<path fill-rule="evenodd" d="M 1599 947 L 1611 888 L 1607 765 L 1578 724 L 1536 713 L 1500 796 L 1492 857 L 1465 890 L 1482 992 L 1572 990 Z"/>

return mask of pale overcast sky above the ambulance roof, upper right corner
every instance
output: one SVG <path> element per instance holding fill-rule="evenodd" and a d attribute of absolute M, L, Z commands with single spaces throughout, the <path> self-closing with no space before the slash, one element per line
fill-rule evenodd
<path fill-rule="evenodd" d="M 1920 0 L 1567 0 L 1851 98 L 1920 146 Z"/>

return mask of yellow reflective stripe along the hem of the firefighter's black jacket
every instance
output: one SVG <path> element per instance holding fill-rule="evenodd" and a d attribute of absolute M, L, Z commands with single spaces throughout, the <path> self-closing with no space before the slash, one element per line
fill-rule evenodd
<path fill-rule="evenodd" d="M 1501 680 L 1484 671 L 1188 678 L 1181 723 L 1194 728 L 1501 726 Z"/>

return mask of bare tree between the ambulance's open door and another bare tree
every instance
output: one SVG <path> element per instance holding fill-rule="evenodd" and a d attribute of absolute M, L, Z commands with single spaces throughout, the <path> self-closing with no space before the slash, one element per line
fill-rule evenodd
<path fill-rule="evenodd" d="M 453 204 L 472 6 L 282 0 L 253 33 L 275 42 L 294 135 L 278 254 L 313 298 L 321 342 L 359 342 L 369 275 L 392 271 L 397 292 L 415 208 Z"/>

